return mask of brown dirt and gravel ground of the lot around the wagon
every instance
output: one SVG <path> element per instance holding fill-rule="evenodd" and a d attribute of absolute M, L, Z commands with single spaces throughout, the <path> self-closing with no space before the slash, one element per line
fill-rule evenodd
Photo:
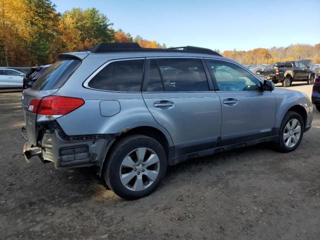
<path fill-rule="evenodd" d="M 291 89 L 311 94 L 311 86 Z M 20 93 L 0 93 L 0 239 L 319 239 L 320 114 L 290 153 L 267 144 L 169 167 L 126 201 L 92 168 L 55 170 L 21 154 Z"/>

